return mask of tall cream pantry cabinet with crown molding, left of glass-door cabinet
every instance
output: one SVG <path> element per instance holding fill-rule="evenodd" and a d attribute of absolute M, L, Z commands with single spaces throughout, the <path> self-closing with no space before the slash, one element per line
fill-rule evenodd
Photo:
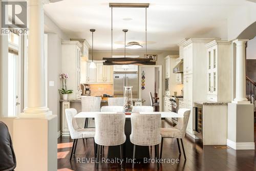
<path fill-rule="evenodd" d="M 189 38 L 178 46 L 183 49 L 183 99 L 184 106 L 191 110 L 187 133 L 196 138 L 193 130 L 193 102 L 207 101 L 206 44 L 216 38 Z M 217 38 L 219 39 L 219 38 Z"/>

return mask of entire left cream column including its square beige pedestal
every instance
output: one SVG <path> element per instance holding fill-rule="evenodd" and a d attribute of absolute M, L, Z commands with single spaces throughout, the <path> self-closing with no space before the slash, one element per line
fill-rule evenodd
<path fill-rule="evenodd" d="M 46 104 L 44 2 L 28 0 L 28 106 L 13 121 L 15 170 L 19 171 L 57 170 L 57 115 L 50 115 Z"/>

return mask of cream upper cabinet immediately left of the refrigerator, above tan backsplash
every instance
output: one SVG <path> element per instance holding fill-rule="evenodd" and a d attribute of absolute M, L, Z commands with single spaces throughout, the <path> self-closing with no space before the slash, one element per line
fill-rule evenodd
<path fill-rule="evenodd" d="M 98 83 L 113 83 L 113 66 L 103 66 L 102 62 L 97 62 L 96 71 Z"/>

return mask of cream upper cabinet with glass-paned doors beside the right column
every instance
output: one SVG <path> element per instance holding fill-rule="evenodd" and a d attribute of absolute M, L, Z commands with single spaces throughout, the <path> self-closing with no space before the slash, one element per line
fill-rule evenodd
<path fill-rule="evenodd" d="M 231 101 L 231 42 L 214 40 L 207 48 L 207 100 Z"/>

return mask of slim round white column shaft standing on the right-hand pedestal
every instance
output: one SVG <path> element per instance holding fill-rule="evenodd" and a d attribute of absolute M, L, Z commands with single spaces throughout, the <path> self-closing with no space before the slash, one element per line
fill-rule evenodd
<path fill-rule="evenodd" d="M 237 39 L 234 42 L 237 45 L 236 58 L 236 98 L 232 103 L 249 103 L 246 98 L 246 75 L 245 75 L 245 43 L 247 39 Z"/>

